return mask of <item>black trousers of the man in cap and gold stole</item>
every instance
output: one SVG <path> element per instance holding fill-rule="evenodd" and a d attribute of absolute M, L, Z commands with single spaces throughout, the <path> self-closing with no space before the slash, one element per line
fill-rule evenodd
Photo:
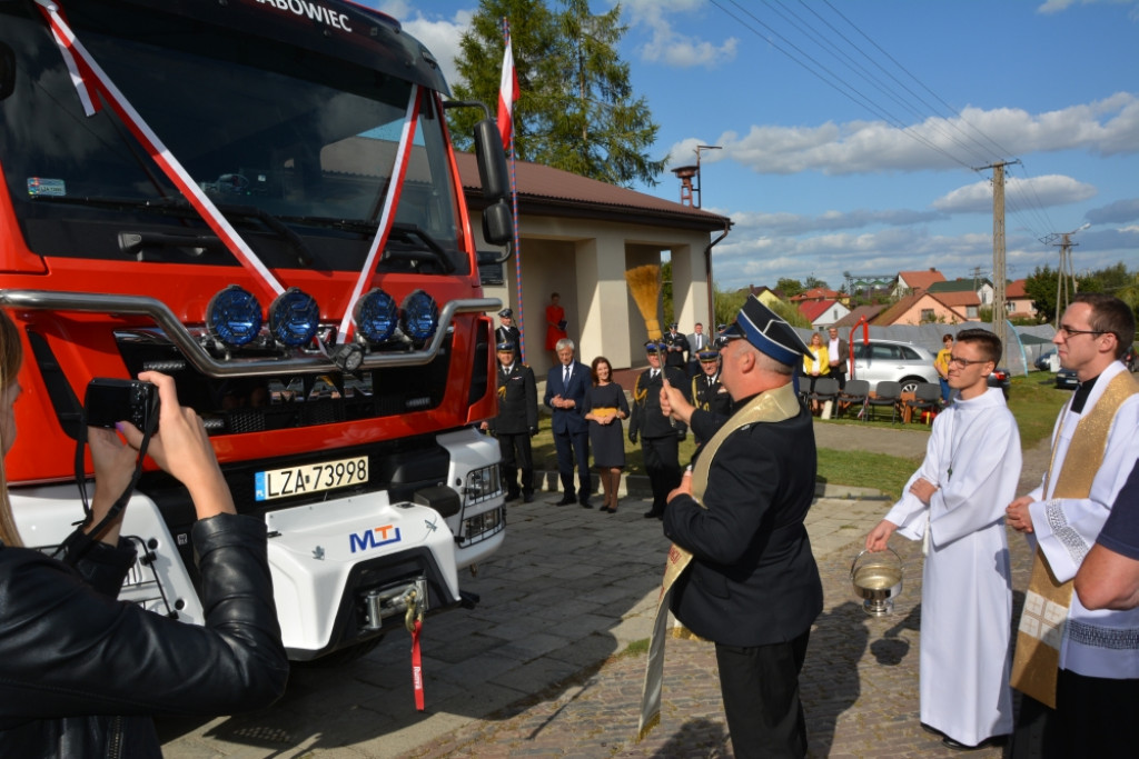
<path fill-rule="evenodd" d="M 798 673 L 810 628 L 770 645 L 715 645 L 720 691 L 737 759 L 806 756 L 806 718 L 798 698 Z"/>

